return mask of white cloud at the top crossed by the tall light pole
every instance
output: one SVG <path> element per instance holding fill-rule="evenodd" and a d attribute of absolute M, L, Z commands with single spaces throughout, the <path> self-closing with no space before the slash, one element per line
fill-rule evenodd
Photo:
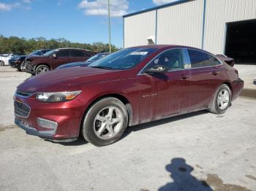
<path fill-rule="evenodd" d="M 86 15 L 108 15 L 108 0 L 83 0 L 78 4 L 79 9 L 83 9 Z M 127 14 L 129 3 L 127 0 L 111 0 L 110 16 L 121 17 Z"/>

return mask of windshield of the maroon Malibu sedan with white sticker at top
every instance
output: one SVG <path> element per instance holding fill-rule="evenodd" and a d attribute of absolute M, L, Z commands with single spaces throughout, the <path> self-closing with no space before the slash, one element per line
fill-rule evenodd
<path fill-rule="evenodd" d="M 131 69 L 156 50 L 157 48 L 138 47 L 119 50 L 91 63 L 89 67 L 114 70 Z"/>

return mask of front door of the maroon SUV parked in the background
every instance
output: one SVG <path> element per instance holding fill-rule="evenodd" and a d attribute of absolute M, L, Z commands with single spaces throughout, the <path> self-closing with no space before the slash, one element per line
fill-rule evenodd
<path fill-rule="evenodd" d="M 71 60 L 71 52 L 69 49 L 62 49 L 56 52 L 56 58 L 53 58 L 53 69 L 56 69 L 58 66 L 64 63 L 70 63 Z"/>

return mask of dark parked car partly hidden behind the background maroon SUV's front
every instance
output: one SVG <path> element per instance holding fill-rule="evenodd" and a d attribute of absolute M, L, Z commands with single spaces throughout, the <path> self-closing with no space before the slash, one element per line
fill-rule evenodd
<path fill-rule="evenodd" d="M 50 50 L 51 49 L 36 50 L 34 52 L 31 52 L 29 55 L 15 56 L 9 60 L 9 65 L 12 66 L 13 68 L 24 71 L 25 69 L 24 61 L 26 60 L 26 58 L 30 58 L 31 56 L 40 56 L 45 54 L 46 52 L 49 52 Z"/>

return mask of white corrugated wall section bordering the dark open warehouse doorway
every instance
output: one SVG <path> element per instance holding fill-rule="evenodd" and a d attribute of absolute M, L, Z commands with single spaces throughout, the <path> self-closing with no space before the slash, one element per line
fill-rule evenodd
<path fill-rule="evenodd" d="M 204 49 L 224 53 L 226 23 L 256 19 L 256 0 L 206 0 Z"/>

